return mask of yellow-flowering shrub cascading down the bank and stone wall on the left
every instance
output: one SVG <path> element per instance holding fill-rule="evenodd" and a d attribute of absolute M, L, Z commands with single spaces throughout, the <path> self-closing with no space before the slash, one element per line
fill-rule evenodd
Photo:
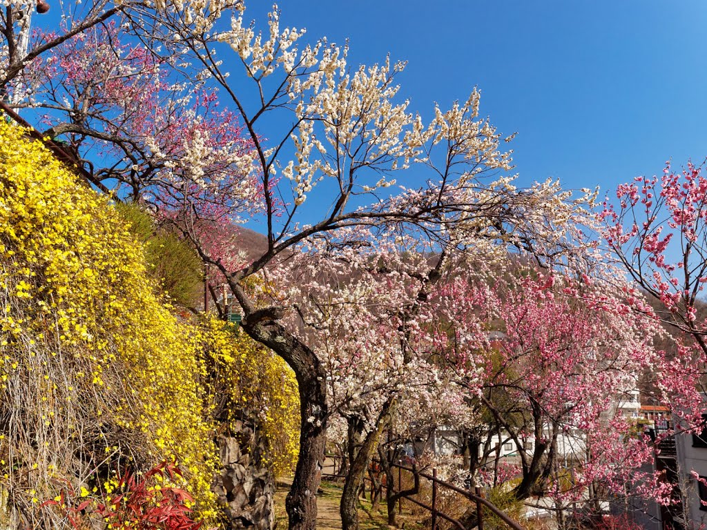
<path fill-rule="evenodd" d="M 0 120 L 0 526 L 49 524 L 39 506 L 66 485 L 105 497 L 117 471 L 165 459 L 185 471 L 197 517 L 217 517 L 209 391 L 220 383 L 207 365 L 235 381 L 257 348 L 220 323 L 178 319 L 153 284 L 109 199 Z M 263 384 L 281 378 L 275 395 L 293 391 L 271 399 L 268 436 L 269 421 L 297 416 L 296 383 L 276 358 L 260 370 Z M 288 443 L 276 466 L 291 465 Z"/>

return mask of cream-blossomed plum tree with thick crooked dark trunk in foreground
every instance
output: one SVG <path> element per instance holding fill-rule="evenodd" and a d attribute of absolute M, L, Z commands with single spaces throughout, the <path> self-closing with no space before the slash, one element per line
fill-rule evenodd
<path fill-rule="evenodd" d="M 261 208 L 267 250 L 235 270 L 207 249 L 201 248 L 201 255 L 221 270 L 243 307 L 243 329 L 297 374 L 300 459 L 287 510 L 291 528 L 312 528 L 328 414 L 323 358 L 315 343 L 287 324 L 290 307 L 252 299 L 243 280 L 267 274 L 312 240 L 356 252 L 414 233 L 420 246 L 428 242 L 440 255 L 469 247 L 493 252 L 509 244 L 538 254 L 561 252 L 578 202 L 589 197 L 573 202 L 554 182 L 516 189 L 505 175 L 510 158 L 500 150 L 503 138 L 479 117 L 476 91 L 448 111 L 433 109 L 433 119 L 425 124 L 399 97 L 395 77 L 403 64 L 386 60 L 351 68 L 346 47 L 325 40 L 300 45 L 303 32 L 281 29 L 276 11 L 264 35 L 244 25 L 238 13 L 224 33 L 195 32 L 169 9 L 163 24 L 179 35 L 185 56 L 201 61 L 211 81 L 228 95 L 252 142 L 249 175 L 257 175 L 260 184 L 255 194 L 239 200 Z M 230 45 L 235 57 L 212 52 L 222 44 Z M 230 72 L 221 67 L 224 58 L 232 65 Z M 279 129 L 261 129 L 265 117 Z M 328 205 L 323 211 L 322 204 Z M 189 235 L 194 209 L 180 211 Z M 192 240 L 200 246 L 198 237 Z M 395 305 L 411 307 L 418 295 L 419 290 L 404 292 Z M 398 334 L 407 340 L 404 322 Z M 383 408 L 379 414 L 385 420 Z M 366 466 L 357 464 L 356 469 Z"/>

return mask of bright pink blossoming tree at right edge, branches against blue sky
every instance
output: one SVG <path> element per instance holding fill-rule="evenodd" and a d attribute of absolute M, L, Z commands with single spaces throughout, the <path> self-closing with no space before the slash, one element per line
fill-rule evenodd
<path fill-rule="evenodd" d="M 600 213 L 610 256 L 658 309 L 636 293 L 636 312 L 660 320 L 677 343 L 666 355 L 667 377 L 655 384 L 674 413 L 696 423 L 704 407 L 707 317 L 701 293 L 707 282 L 707 179 L 689 163 L 674 171 L 667 163 L 660 177 L 636 177 L 617 188 L 617 204 L 607 198 Z"/>

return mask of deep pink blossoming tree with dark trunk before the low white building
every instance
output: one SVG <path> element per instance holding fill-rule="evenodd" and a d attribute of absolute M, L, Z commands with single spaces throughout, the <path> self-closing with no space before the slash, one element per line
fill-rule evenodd
<path fill-rule="evenodd" d="M 460 383 L 488 424 L 476 433 L 481 457 L 470 455 L 472 472 L 481 472 L 490 454 L 498 465 L 495 434 L 520 457 L 513 489 L 519 500 L 539 495 L 562 505 L 583 502 L 587 492 L 625 495 L 638 488 L 670 503 L 672 486 L 638 471 L 653 448 L 621 413 L 641 372 L 669 368 L 653 347 L 655 322 L 631 311 L 629 288 L 517 266 L 489 279 L 460 277 L 446 287 L 448 309 L 438 331 L 452 366 L 467 370 Z M 478 334 L 464 331 L 467 320 L 476 330 L 479 319 L 497 331 L 481 348 Z"/>

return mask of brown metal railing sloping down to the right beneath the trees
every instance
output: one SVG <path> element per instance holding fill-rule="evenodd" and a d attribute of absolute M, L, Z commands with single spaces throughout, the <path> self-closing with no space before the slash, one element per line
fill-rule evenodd
<path fill-rule="evenodd" d="M 329 455 L 327 454 L 327 458 L 329 459 L 339 459 L 338 455 Z M 412 502 L 415 505 L 418 505 L 419 507 L 427 510 L 431 514 L 431 530 L 437 530 L 437 523 L 438 519 L 445 519 L 445 521 L 450 522 L 457 530 L 469 530 L 462 522 L 460 522 L 458 519 L 455 519 L 454 517 L 451 517 L 449 514 L 445 514 L 444 512 L 440 511 L 438 509 L 438 490 L 439 488 L 446 488 L 447 490 L 452 490 L 455 493 L 458 493 L 464 497 L 466 497 L 468 500 L 474 502 L 474 505 L 476 505 L 476 510 L 477 510 L 477 528 L 478 530 L 484 530 L 484 509 L 489 510 L 489 512 L 493 513 L 498 517 L 498 519 L 501 519 L 504 523 L 508 525 L 510 529 L 513 530 L 525 530 L 518 522 L 515 522 L 513 519 L 508 517 L 508 514 L 504 513 L 502 510 L 500 510 L 496 505 L 493 505 L 492 502 L 487 500 L 483 493 L 481 493 L 481 488 L 476 487 L 474 488 L 474 493 L 472 493 L 469 490 L 464 490 L 462 488 L 459 488 L 455 486 L 454 484 L 450 484 L 446 481 L 441 480 L 440 478 L 437 478 L 437 469 L 433 468 L 432 469 L 432 474 L 425 473 L 424 471 L 418 471 L 414 468 L 408 467 L 408 466 L 403 466 L 402 464 L 391 464 L 391 467 L 397 468 L 398 469 L 398 488 L 399 490 L 402 489 L 402 476 L 401 472 L 402 471 L 407 471 L 408 473 L 411 473 L 414 478 L 416 483 L 418 483 L 420 478 L 425 478 L 426 480 L 431 482 L 432 485 L 432 495 L 431 495 L 431 505 L 427 505 L 424 502 L 422 502 L 419 499 L 416 499 L 413 495 L 407 495 L 403 493 L 401 498 L 404 498 L 405 500 Z M 323 477 L 329 477 L 329 478 L 345 478 L 343 475 L 337 475 L 335 473 L 324 473 L 322 471 L 322 478 Z M 370 481 L 370 478 L 365 477 L 366 481 Z M 380 483 L 380 487 L 385 488 L 386 490 L 388 488 L 391 488 L 391 493 L 392 494 L 398 494 L 400 493 L 399 490 L 395 490 L 395 483 L 392 485 L 388 485 Z M 400 513 L 402 513 L 402 510 L 399 510 Z"/>

